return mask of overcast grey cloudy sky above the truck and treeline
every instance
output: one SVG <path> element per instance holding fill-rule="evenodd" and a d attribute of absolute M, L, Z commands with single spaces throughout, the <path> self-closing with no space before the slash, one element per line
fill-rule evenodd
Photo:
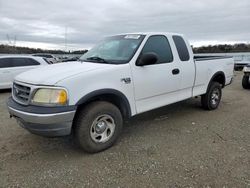
<path fill-rule="evenodd" d="M 0 0 L 0 44 L 89 49 L 112 34 L 154 31 L 194 46 L 249 43 L 250 1 Z"/>

